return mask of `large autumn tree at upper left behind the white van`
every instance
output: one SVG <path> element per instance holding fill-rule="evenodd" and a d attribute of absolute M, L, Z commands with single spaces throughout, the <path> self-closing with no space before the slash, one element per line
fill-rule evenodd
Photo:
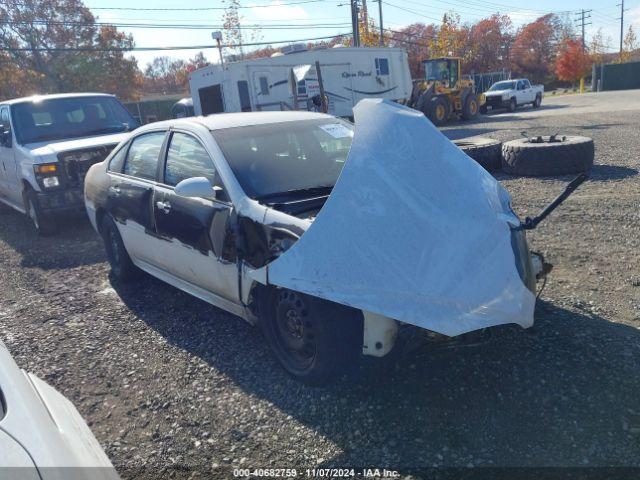
<path fill-rule="evenodd" d="M 135 97 L 139 70 L 124 56 L 132 47 L 131 36 L 97 25 L 81 0 L 0 2 L 0 48 L 21 79 L 0 87 L 6 97 L 83 90 Z"/>

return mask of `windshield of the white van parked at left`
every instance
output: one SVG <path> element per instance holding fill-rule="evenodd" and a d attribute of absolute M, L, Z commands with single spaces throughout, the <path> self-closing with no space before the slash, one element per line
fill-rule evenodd
<path fill-rule="evenodd" d="M 12 111 L 21 144 L 126 132 L 139 126 L 113 97 L 27 101 L 14 105 Z"/>

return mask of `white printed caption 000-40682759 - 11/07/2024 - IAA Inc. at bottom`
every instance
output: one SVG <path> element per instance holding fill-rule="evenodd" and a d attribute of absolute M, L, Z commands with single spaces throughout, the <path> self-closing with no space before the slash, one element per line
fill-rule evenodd
<path fill-rule="evenodd" d="M 233 470 L 234 477 L 263 478 L 399 478 L 397 470 L 386 468 L 238 468 Z"/>

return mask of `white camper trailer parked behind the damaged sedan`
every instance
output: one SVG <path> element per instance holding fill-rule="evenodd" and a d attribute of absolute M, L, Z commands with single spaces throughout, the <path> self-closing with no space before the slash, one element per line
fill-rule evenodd
<path fill-rule="evenodd" d="M 332 115 L 351 117 L 353 106 L 363 98 L 403 100 L 411 95 L 411 74 L 403 49 L 307 50 L 305 45 L 290 45 L 272 57 L 210 65 L 191 73 L 195 114 L 313 110 L 312 99 L 320 94 L 316 62 Z M 292 70 L 303 65 L 311 68 L 304 78 L 292 80 Z"/>

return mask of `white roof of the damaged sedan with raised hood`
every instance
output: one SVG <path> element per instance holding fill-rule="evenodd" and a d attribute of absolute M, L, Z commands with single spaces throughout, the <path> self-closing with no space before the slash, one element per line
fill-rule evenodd
<path fill-rule="evenodd" d="M 153 130 L 157 128 L 188 127 L 190 125 L 202 125 L 209 130 L 221 130 L 223 128 L 248 127 L 251 125 L 268 125 L 270 123 L 299 122 L 302 120 L 335 120 L 336 117 L 316 112 L 241 112 L 241 113 L 216 113 L 206 117 L 187 117 L 149 123 L 136 131 Z"/>

